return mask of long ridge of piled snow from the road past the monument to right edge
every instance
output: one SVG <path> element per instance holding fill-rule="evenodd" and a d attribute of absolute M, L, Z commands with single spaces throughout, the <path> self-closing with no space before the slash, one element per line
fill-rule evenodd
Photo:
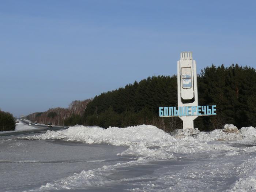
<path fill-rule="evenodd" d="M 214 140 L 255 141 L 256 129 L 253 127 L 242 127 L 238 130 L 236 126 L 226 124 L 223 129 L 215 129 L 211 132 L 200 132 L 197 128 L 193 130 L 186 129 L 184 132 L 182 129 L 178 129 L 174 133 L 174 136 L 171 136 L 153 125 L 139 125 L 126 128 L 110 127 L 108 129 L 103 129 L 97 126 L 85 127 L 82 125 L 76 125 L 75 127 L 69 127 L 68 129 L 57 132 L 48 130 L 44 134 L 23 137 L 23 139 L 61 139 L 89 144 L 108 143 L 117 146 L 144 144 L 146 147 L 163 147 L 173 145 L 174 143 L 200 146 L 202 144 L 199 144 L 199 142 Z"/>

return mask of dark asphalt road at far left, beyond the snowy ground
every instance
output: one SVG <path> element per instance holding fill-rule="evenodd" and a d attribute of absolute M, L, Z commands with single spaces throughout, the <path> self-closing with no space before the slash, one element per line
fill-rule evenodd
<path fill-rule="evenodd" d="M 22 121 L 22 123 L 24 124 L 28 124 L 28 122 L 26 121 Z M 4 137 L 4 136 L 12 136 L 12 135 L 27 135 L 27 134 L 32 134 L 32 133 L 45 133 L 48 130 L 51 131 L 56 131 L 59 129 L 67 129 L 69 127 L 63 127 L 63 126 L 52 126 L 52 127 L 48 127 L 47 125 L 35 125 L 34 123 L 31 123 L 30 126 L 36 127 L 38 129 L 32 129 L 32 130 L 27 130 L 27 131 L 16 131 L 16 132 L 10 132 L 10 133 L 1 133 L 0 134 L 0 138 Z"/>

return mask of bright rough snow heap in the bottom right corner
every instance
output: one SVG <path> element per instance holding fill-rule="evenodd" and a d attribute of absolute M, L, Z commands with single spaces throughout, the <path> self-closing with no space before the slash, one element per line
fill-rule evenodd
<path fill-rule="evenodd" d="M 256 158 L 248 159 L 238 167 L 239 180 L 235 182 L 230 192 L 256 191 Z"/>

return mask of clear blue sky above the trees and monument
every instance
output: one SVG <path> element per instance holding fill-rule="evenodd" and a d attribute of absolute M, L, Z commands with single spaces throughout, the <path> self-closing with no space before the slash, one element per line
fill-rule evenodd
<path fill-rule="evenodd" d="M 182 51 L 197 73 L 212 63 L 256 68 L 255 2 L 3 0 L 0 108 L 41 112 L 173 75 Z"/>

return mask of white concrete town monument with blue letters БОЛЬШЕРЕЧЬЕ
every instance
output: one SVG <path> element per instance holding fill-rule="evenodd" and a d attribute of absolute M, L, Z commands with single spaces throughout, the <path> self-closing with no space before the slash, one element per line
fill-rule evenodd
<path fill-rule="evenodd" d="M 177 61 L 177 107 L 159 107 L 159 117 L 179 117 L 183 130 L 194 129 L 198 116 L 216 115 L 215 105 L 198 105 L 196 61 L 192 52 L 181 52 Z"/>

